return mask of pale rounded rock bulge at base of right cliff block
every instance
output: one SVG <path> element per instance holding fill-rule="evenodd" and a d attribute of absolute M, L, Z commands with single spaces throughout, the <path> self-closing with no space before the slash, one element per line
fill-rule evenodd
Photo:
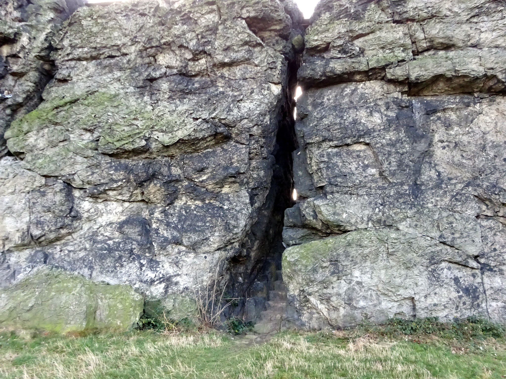
<path fill-rule="evenodd" d="M 357 229 L 286 250 L 284 280 L 304 289 L 305 326 L 353 326 L 392 316 L 447 318 L 486 308 L 479 264 L 423 235 Z M 463 264 L 462 264 L 463 262 Z M 469 266 L 468 266 L 469 264 Z M 455 296 L 458 294 L 459 296 Z"/>

